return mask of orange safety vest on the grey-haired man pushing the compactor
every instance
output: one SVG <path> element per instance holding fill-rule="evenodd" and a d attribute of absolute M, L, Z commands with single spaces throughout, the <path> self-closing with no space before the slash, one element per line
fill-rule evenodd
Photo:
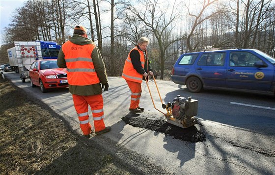
<path fill-rule="evenodd" d="M 141 50 L 139 50 L 137 46 L 134 47 L 132 50 L 138 51 L 139 56 L 140 56 L 141 66 L 144 68 L 145 58 L 144 58 L 143 52 Z M 124 64 L 124 68 L 123 68 L 123 72 L 122 72 L 122 78 L 124 78 L 125 80 L 130 80 L 133 82 L 141 83 L 142 82 L 142 74 L 138 73 L 137 70 L 134 68 L 131 58 L 130 58 L 130 53 L 128 54 L 128 58 L 125 60 L 125 64 Z"/>

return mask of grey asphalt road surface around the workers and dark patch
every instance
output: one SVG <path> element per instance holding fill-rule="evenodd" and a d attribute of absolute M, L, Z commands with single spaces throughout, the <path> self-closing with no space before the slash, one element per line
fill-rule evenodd
<path fill-rule="evenodd" d="M 4 72 L 13 84 L 48 104 L 56 113 L 79 129 L 78 118 L 68 88 L 42 93 L 39 87 L 22 83 L 19 74 Z M 185 86 L 157 80 L 165 103 L 178 94 L 198 100 L 198 115 L 206 136 L 203 142 L 189 142 L 145 128 L 126 124 L 130 90 L 122 78 L 109 77 L 109 90 L 103 92 L 105 123 L 112 130 L 92 138 L 106 146 L 135 152 L 167 172 L 176 175 L 274 175 L 275 174 L 275 98 L 237 92 L 205 90 L 188 92 Z M 161 101 L 153 81 L 149 81 L 158 109 Z M 148 88 L 142 84 L 140 118 L 164 118 L 154 109 Z M 165 111 L 163 111 L 165 112 Z M 89 112 L 91 115 L 91 112 Z M 91 122 L 92 123 L 92 122 Z M 200 128 L 201 129 L 201 128 Z M 81 133 L 80 133 L 81 134 Z"/>

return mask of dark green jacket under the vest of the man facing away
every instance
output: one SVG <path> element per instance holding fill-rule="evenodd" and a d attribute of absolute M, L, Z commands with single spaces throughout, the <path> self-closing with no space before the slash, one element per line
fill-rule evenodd
<path fill-rule="evenodd" d="M 94 44 L 94 42 L 91 41 L 90 39 L 85 38 L 78 34 L 74 34 L 73 37 L 70 38 L 70 41 L 74 44 L 82 45 L 82 46 L 86 44 Z M 97 47 L 93 49 L 91 57 L 93 60 L 95 71 L 100 80 L 100 83 L 102 84 L 108 83 L 105 64 L 103 62 L 103 59 Z M 65 55 L 62 51 L 62 47 L 58 54 L 57 65 L 61 68 L 67 68 L 66 62 L 65 62 Z M 102 94 L 102 87 L 100 83 L 94 84 L 94 85 L 86 85 L 86 86 L 69 85 L 69 90 L 72 94 L 84 95 L 84 96 Z"/>

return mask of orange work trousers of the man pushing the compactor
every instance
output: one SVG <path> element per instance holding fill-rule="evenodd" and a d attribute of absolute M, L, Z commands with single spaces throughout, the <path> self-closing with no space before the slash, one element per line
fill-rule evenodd
<path fill-rule="evenodd" d="M 128 84 L 128 87 L 132 92 L 130 109 L 136 109 L 139 107 L 138 105 L 141 96 L 141 83 L 133 82 L 130 80 L 126 80 L 126 83 Z"/>

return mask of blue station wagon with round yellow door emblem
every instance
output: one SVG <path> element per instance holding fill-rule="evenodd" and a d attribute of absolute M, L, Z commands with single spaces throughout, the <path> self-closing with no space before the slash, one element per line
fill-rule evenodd
<path fill-rule="evenodd" d="M 221 89 L 275 95 L 275 58 L 256 49 L 210 49 L 182 54 L 171 80 L 190 92 Z"/>

